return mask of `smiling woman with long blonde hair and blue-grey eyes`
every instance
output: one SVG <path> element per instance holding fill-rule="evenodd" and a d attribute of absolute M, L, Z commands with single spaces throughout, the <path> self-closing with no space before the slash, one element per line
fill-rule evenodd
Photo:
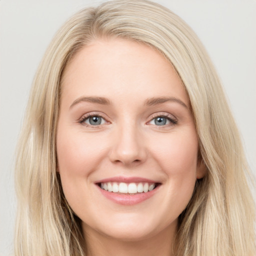
<path fill-rule="evenodd" d="M 71 17 L 23 127 L 17 255 L 255 254 L 235 123 L 198 38 L 166 8 Z"/>

